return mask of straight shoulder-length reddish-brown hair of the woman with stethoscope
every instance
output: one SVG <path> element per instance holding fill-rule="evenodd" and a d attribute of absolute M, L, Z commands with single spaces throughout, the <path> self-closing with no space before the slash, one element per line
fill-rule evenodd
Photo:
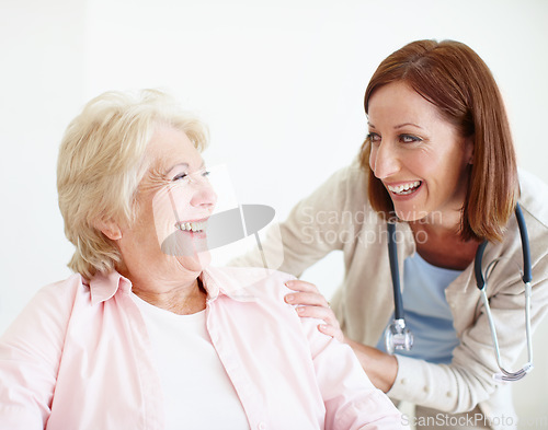
<path fill-rule="evenodd" d="M 388 56 L 365 91 L 364 106 L 375 90 L 403 81 L 435 105 L 463 137 L 473 140 L 473 160 L 463 207 L 463 239 L 500 241 L 514 211 L 518 184 L 514 146 L 504 103 L 483 60 L 454 40 L 416 40 Z M 369 167 L 370 142 L 362 146 L 361 165 L 368 171 L 373 208 L 387 217 L 393 204 Z"/>

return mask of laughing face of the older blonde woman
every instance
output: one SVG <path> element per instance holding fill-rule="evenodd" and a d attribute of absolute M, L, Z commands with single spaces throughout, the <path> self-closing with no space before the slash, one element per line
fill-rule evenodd
<path fill-rule="evenodd" d="M 204 228 L 217 197 L 204 161 L 184 132 L 167 126 L 152 136 L 146 159 L 149 168 L 137 193 L 136 222 L 118 241 L 124 265 L 129 272 L 138 266 L 199 272 L 209 263 Z M 178 252 L 167 252 L 173 237 Z"/>

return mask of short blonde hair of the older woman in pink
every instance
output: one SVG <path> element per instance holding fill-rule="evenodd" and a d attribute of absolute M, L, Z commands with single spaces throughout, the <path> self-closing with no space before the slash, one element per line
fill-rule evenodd
<path fill-rule="evenodd" d="M 136 191 L 148 168 L 145 150 L 159 126 L 185 132 L 201 151 L 207 146 L 205 126 L 157 90 L 103 93 L 67 127 L 57 163 L 59 209 L 76 246 L 68 266 L 88 279 L 122 260 L 99 225 L 135 221 Z"/>

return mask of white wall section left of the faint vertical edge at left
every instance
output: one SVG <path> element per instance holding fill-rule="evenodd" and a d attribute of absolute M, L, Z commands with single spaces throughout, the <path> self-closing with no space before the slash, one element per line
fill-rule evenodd
<path fill-rule="evenodd" d="M 0 333 L 44 283 L 69 275 L 57 208 L 64 128 L 84 98 L 84 4 L 0 2 Z"/>

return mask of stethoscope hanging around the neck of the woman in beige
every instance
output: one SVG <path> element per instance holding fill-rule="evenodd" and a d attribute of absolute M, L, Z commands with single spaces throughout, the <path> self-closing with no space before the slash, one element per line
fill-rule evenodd
<path fill-rule="evenodd" d="M 524 367 L 517 372 L 509 372 L 502 367 L 501 353 L 499 348 L 499 339 L 496 337 L 496 329 L 494 327 L 493 317 L 491 315 L 491 307 L 489 305 L 489 299 L 487 297 L 487 278 L 491 270 L 494 268 L 500 258 L 491 262 L 486 270 L 481 270 L 481 263 L 483 259 L 483 252 L 488 244 L 483 241 L 476 252 L 476 258 L 473 262 L 473 274 L 476 276 L 476 283 L 481 293 L 481 300 L 483 306 L 486 307 L 486 314 L 489 321 L 489 327 L 491 329 L 491 338 L 494 345 L 494 353 L 496 357 L 496 364 L 501 370 L 499 373 L 493 375 L 494 379 L 499 381 L 517 381 L 524 377 L 528 372 L 533 370 L 533 342 L 530 336 L 530 295 L 532 295 L 532 275 L 530 275 L 530 248 L 529 248 L 529 237 L 527 235 L 527 228 L 525 225 L 525 220 L 523 218 L 522 209 L 520 205 L 516 204 L 515 217 L 517 219 L 517 226 L 520 229 L 520 236 L 522 239 L 522 252 L 523 252 L 523 277 L 522 280 L 525 284 L 525 330 L 527 336 L 527 357 L 528 361 Z M 395 350 L 410 350 L 413 346 L 413 334 L 406 326 L 406 319 L 403 317 L 403 304 L 401 298 L 400 288 L 400 276 L 398 270 L 398 249 L 396 243 L 396 224 L 393 222 L 388 222 L 388 256 L 390 260 L 390 274 L 392 277 L 393 287 L 393 321 L 386 328 L 385 332 L 385 346 L 388 353 L 393 353 Z M 521 271 L 521 270 L 520 270 Z"/>

